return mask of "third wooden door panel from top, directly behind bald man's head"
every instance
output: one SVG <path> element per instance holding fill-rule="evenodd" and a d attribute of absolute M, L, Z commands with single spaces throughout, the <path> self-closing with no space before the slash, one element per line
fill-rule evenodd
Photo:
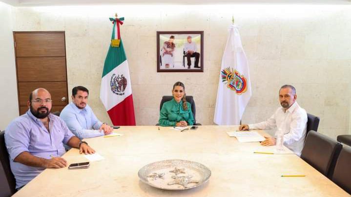
<path fill-rule="evenodd" d="M 66 82 L 19 82 L 20 106 L 27 105 L 29 94 L 37 88 L 44 88 L 51 93 L 53 106 L 68 104 Z M 66 101 L 62 101 L 62 97 L 65 97 Z"/>

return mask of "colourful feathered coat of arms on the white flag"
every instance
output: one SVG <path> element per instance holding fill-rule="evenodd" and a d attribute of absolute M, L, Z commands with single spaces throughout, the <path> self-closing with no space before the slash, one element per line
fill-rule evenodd
<path fill-rule="evenodd" d="M 244 75 L 240 74 L 238 71 L 230 69 L 229 67 L 223 69 L 221 72 L 222 82 L 227 84 L 227 88 L 235 91 L 238 95 L 246 92 L 247 90 L 247 80 Z"/>

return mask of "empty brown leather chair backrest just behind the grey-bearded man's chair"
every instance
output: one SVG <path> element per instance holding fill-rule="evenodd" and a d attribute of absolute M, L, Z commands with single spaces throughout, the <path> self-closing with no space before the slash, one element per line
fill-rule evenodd
<path fill-rule="evenodd" d="M 301 159 L 308 162 L 326 177 L 331 178 L 341 148 L 341 143 L 311 130 L 307 134 L 305 145 L 301 152 Z"/>

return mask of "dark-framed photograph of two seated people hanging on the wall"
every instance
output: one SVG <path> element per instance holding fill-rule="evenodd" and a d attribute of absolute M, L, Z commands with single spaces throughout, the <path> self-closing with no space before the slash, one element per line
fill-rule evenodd
<path fill-rule="evenodd" d="M 204 31 L 157 32 L 157 72 L 204 72 Z"/>

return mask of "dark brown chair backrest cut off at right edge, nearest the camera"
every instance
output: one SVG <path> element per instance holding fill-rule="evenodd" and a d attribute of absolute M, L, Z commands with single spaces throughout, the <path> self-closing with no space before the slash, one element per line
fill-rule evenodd
<path fill-rule="evenodd" d="M 340 152 L 331 180 L 351 194 L 351 147 L 344 146 Z"/>

